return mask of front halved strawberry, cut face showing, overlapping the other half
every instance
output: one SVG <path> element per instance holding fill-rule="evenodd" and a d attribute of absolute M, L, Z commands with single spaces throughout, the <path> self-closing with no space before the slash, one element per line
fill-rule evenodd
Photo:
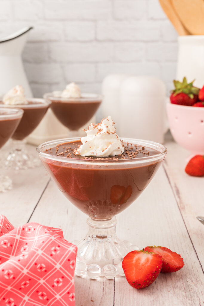
<path fill-rule="evenodd" d="M 151 285 L 158 277 L 161 266 L 160 255 L 144 251 L 129 252 L 122 262 L 128 283 L 136 289 Z"/>

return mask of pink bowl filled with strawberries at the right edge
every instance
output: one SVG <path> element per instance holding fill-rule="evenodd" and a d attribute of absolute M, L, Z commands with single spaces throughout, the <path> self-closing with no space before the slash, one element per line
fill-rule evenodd
<path fill-rule="evenodd" d="M 204 103 L 200 101 L 204 100 L 204 87 L 194 87 L 185 77 L 183 82 L 174 80 L 174 86 L 167 104 L 172 136 L 192 156 L 204 155 Z"/>

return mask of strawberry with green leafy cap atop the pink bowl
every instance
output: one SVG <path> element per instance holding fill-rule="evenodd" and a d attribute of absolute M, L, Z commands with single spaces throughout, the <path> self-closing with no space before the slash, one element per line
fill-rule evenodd
<path fill-rule="evenodd" d="M 199 88 L 193 86 L 193 82 L 187 83 L 186 77 L 183 82 L 174 80 L 175 89 L 171 91 L 170 101 L 172 104 L 192 106 L 198 101 Z"/>

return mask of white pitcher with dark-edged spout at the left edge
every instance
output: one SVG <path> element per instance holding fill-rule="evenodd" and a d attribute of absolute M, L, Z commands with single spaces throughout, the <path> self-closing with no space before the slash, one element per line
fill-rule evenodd
<path fill-rule="evenodd" d="M 2 94 L 19 84 L 24 87 L 26 97 L 32 97 L 21 59 L 26 36 L 31 29 L 32 27 L 25 27 L 0 39 L 0 93 Z"/>

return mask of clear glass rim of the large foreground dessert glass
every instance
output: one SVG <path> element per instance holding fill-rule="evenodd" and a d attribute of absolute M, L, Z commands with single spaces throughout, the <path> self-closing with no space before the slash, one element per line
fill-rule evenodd
<path fill-rule="evenodd" d="M 140 158 L 132 158 L 132 159 L 118 159 L 118 160 L 98 160 L 98 159 L 78 159 L 78 158 L 67 158 L 64 156 L 57 156 L 57 155 L 52 155 L 50 153 L 45 153 L 43 150 L 46 150 L 47 147 L 53 148 L 57 144 L 63 144 L 66 142 L 74 142 L 77 140 L 80 140 L 81 137 L 71 137 L 71 138 L 62 138 L 62 139 L 56 139 L 56 140 L 51 140 L 51 141 L 46 141 L 43 144 L 40 144 L 36 150 L 39 153 L 41 157 L 44 157 L 46 159 L 50 160 L 55 160 L 58 162 L 64 162 L 64 163 L 69 163 L 69 164 L 82 164 L 82 165 L 106 165 L 107 162 L 111 165 L 119 165 L 119 164 L 140 164 L 143 162 L 149 162 L 149 161 L 157 161 L 159 159 L 162 159 L 162 157 L 165 157 L 167 153 L 167 148 L 163 144 L 159 144 L 158 142 L 150 141 L 150 140 L 143 140 L 143 139 L 133 139 L 133 138 L 126 138 L 126 137 L 120 137 L 121 140 L 127 141 L 132 144 L 139 144 L 139 145 L 151 145 L 151 148 L 157 147 L 160 148 L 162 151 L 158 154 L 151 155 L 151 156 L 145 156 L 145 157 L 140 157 Z M 53 147 L 52 147 L 53 146 Z M 154 147 L 152 147 L 154 146 Z M 155 148 L 156 149 L 156 148 Z M 115 156 L 117 157 L 117 156 Z"/>

